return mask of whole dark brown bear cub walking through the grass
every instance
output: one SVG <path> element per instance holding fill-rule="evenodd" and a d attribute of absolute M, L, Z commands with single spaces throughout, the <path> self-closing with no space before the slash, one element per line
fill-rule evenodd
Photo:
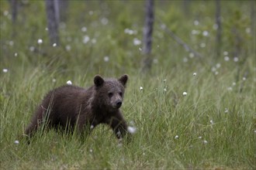
<path fill-rule="evenodd" d="M 98 124 L 109 124 L 117 138 L 123 138 L 127 124 L 119 108 L 128 80 L 127 75 L 118 80 L 94 77 L 88 89 L 65 85 L 51 90 L 37 107 L 25 134 L 31 138 L 38 128 L 55 128 L 85 135 Z"/>

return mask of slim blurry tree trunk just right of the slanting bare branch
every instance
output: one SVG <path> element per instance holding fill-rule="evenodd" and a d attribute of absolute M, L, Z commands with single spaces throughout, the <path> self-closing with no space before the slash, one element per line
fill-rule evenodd
<path fill-rule="evenodd" d="M 216 0 L 216 58 L 220 57 L 221 51 L 221 17 L 220 17 L 220 0 Z"/>

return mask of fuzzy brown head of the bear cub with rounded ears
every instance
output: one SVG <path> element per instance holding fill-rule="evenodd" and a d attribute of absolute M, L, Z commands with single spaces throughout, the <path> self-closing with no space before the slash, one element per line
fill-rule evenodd
<path fill-rule="evenodd" d="M 123 94 L 128 76 L 125 74 L 119 79 L 103 79 L 102 76 L 94 77 L 95 98 L 100 107 L 106 111 L 117 110 L 123 103 Z"/>

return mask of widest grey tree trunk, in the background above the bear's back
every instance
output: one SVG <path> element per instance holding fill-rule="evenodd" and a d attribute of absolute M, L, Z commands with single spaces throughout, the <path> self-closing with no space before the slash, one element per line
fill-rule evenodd
<path fill-rule="evenodd" d="M 58 0 L 46 0 L 47 23 L 50 36 L 50 45 L 59 44 L 58 25 L 59 25 L 59 5 Z"/>

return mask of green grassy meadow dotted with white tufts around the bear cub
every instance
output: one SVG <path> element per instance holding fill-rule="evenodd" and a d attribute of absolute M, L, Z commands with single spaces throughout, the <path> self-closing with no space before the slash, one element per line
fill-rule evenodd
<path fill-rule="evenodd" d="M 51 46 L 44 1 L 22 1 L 12 23 L 1 0 L 0 169 L 255 169 L 255 2 L 220 5 L 216 55 L 214 1 L 155 1 L 153 63 L 142 73 L 144 1 L 70 1 L 60 46 Z M 47 91 L 124 73 L 121 109 L 137 128 L 129 144 L 106 125 L 85 141 L 40 131 L 30 145 L 15 144 Z"/>

